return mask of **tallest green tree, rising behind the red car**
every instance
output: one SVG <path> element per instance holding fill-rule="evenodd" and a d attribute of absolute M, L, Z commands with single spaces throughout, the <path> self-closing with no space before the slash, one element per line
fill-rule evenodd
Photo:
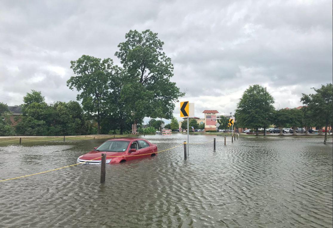
<path fill-rule="evenodd" d="M 173 65 L 163 52 L 164 42 L 157 35 L 150 30 L 142 33 L 130 30 L 115 53 L 132 81 L 122 95 L 135 123 L 145 116 L 171 119 L 175 102 L 184 95 L 170 81 Z"/>

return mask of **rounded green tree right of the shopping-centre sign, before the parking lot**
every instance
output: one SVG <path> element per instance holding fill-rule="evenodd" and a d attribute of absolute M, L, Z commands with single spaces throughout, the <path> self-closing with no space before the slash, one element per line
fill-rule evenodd
<path fill-rule="evenodd" d="M 260 85 L 251 85 L 245 90 L 237 104 L 237 125 L 239 127 L 258 128 L 271 122 L 274 98 Z"/>

